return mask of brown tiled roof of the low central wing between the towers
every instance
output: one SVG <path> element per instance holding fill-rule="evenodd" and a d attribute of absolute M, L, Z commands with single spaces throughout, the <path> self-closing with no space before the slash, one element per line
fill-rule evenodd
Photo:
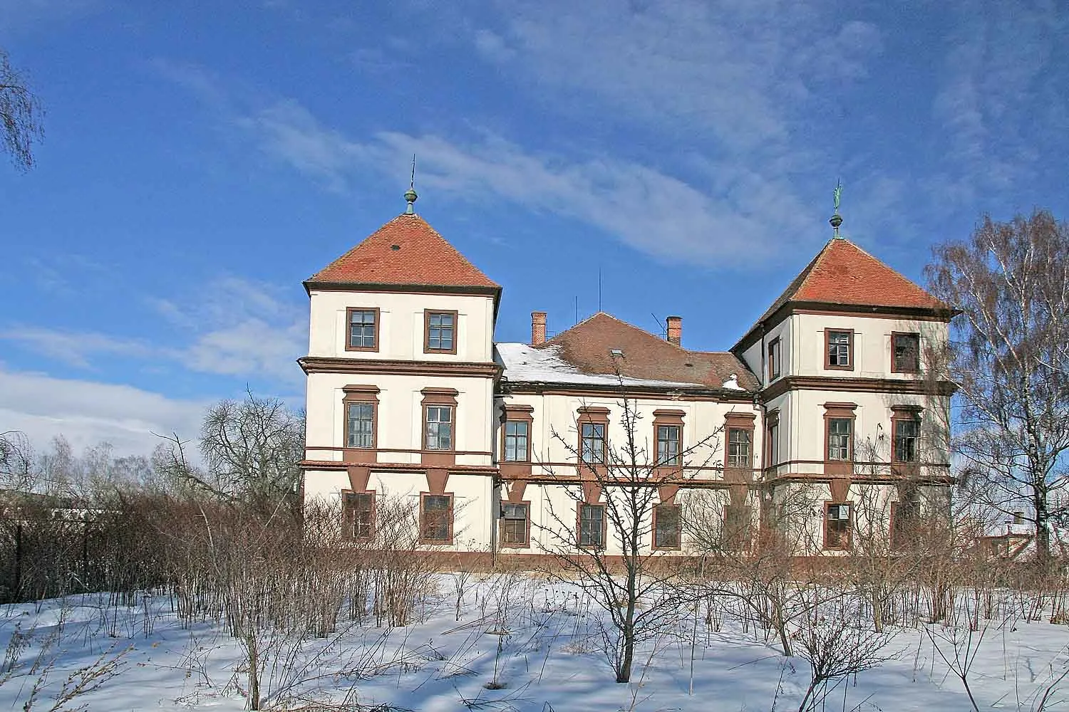
<path fill-rule="evenodd" d="M 687 351 L 604 312 L 534 348 L 551 347 L 559 347 L 558 357 L 586 374 L 616 375 L 619 364 L 625 378 L 719 389 L 734 374 L 742 389 L 758 387 L 757 377 L 733 353 Z M 613 357 L 613 349 L 623 351 L 623 358 Z"/>

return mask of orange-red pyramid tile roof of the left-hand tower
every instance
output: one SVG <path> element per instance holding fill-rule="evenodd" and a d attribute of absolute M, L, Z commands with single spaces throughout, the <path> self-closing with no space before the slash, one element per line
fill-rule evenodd
<path fill-rule="evenodd" d="M 376 230 L 308 283 L 500 289 L 425 220 L 407 213 Z"/>

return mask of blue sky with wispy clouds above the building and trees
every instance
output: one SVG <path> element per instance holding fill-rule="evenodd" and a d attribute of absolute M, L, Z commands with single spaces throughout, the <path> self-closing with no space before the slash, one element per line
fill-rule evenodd
<path fill-rule="evenodd" d="M 505 286 L 726 349 L 830 237 L 921 279 L 985 212 L 1069 217 L 1051 2 L 0 0 L 47 109 L 0 164 L 0 431 L 146 452 L 299 404 L 301 280 L 418 211 Z"/>

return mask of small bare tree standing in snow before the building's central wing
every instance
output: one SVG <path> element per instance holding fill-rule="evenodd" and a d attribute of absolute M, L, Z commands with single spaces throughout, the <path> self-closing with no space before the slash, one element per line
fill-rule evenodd
<path fill-rule="evenodd" d="M 547 539 L 541 547 L 558 565 L 551 575 L 563 580 L 563 571 L 578 577 L 608 614 L 611 628 L 603 631 L 605 652 L 616 681 L 629 682 L 635 644 L 655 634 L 683 602 L 682 567 L 666 558 L 668 549 L 681 544 L 678 513 L 664 510 L 662 531 L 654 532 L 660 488 L 693 478 L 694 468 L 708 465 L 719 448 L 721 429 L 678 453 L 657 453 L 638 436 L 641 414 L 635 401 L 622 397 L 619 406 L 623 442 L 610 442 L 607 423 L 597 438 L 583 439 L 582 424 L 570 437 L 553 432 L 577 463 L 578 478 L 563 477 L 574 482 L 563 489 L 578 511 L 557 511 L 551 501 L 551 525 L 540 528 Z M 577 441 L 583 444 L 576 446 Z M 582 508 L 590 503 L 598 503 L 603 516 L 585 522 Z M 671 507 L 671 512 L 678 509 Z M 676 518 L 673 522 L 669 517 Z M 616 544 L 613 550 L 609 536 Z M 655 549 L 655 536 L 673 540 Z"/>

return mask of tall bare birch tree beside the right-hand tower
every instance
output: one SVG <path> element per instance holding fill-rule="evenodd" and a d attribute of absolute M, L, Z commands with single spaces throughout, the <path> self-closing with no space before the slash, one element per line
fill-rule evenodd
<path fill-rule="evenodd" d="M 933 294 L 962 310 L 952 374 L 962 395 L 956 450 L 1009 513 L 1027 501 L 1037 553 L 1066 513 L 1069 448 L 1069 226 L 1045 210 L 985 217 L 972 237 L 934 250 Z"/>

